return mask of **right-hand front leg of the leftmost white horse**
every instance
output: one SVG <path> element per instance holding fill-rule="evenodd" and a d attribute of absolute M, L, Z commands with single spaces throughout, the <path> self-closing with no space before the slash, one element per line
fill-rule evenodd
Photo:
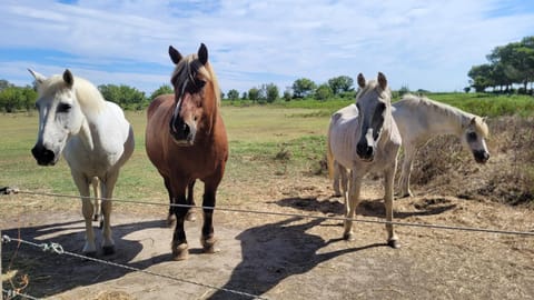
<path fill-rule="evenodd" d="M 108 172 L 106 180 L 101 182 L 101 194 L 105 200 L 102 200 L 102 216 L 103 216 L 103 226 L 102 226 L 102 252 L 105 256 L 115 253 L 115 241 L 111 233 L 111 208 L 113 199 L 115 184 L 119 177 L 119 171 Z"/>

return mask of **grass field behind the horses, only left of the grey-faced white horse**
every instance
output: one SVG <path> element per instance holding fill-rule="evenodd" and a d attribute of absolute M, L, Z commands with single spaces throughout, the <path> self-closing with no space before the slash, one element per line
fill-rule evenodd
<path fill-rule="evenodd" d="M 308 116 L 309 112 L 309 109 L 224 107 L 230 142 L 225 181 L 260 181 L 263 171 L 269 176 L 299 170 L 317 172 L 325 151 L 328 118 Z M 145 111 L 126 114 L 134 126 L 136 150 L 122 168 L 115 198 L 167 202 L 162 180 L 145 152 Z M 36 163 L 30 149 L 36 142 L 37 123 L 37 113 L 0 114 L 0 186 L 78 194 L 63 159 L 53 167 Z M 220 193 L 224 201 L 224 189 Z"/>

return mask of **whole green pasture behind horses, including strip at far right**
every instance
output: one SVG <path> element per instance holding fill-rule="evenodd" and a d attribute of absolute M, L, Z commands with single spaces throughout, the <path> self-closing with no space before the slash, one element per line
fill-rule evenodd
<path fill-rule="evenodd" d="M 481 116 L 533 116 L 534 98 L 436 93 L 428 96 Z M 298 100 L 268 106 L 225 103 L 221 108 L 230 142 L 224 184 L 261 183 L 266 176 L 324 176 L 325 140 L 332 112 L 353 100 Z M 145 153 L 145 111 L 127 111 L 136 150 L 123 167 L 115 198 L 167 202 L 162 180 Z M 0 186 L 21 190 L 78 194 L 65 160 L 39 167 L 30 153 L 37 136 L 37 113 L 0 114 Z M 224 188 L 219 202 L 235 194 Z"/>

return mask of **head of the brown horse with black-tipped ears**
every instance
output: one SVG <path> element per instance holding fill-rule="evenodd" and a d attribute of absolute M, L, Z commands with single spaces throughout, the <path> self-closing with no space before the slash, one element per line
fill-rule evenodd
<path fill-rule="evenodd" d="M 208 62 L 208 49 L 200 44 L 196 54 L 182 57 L 169 46 L 176 64 L 170 79 L 175 89 L 175 107 L 170 118 L 170 134 L 180 146 L 192 146 L 199 130 L 209 131 L 220 101 L 217 79 Z"/>

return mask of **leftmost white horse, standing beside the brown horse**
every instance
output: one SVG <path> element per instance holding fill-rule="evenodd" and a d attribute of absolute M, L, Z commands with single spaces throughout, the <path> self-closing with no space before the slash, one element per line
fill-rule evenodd
<path fill-rule="evenodd" d="M 97 247 L 91 218 L 93 206 L 89 184 L 98 187 L 101 196 L 111 199 L 119 169 L 134 152 L 134 131 L 122 110 L 106 101 L 89 81 L 62 76 L 46 78 L 29 70 L 36 79 L 39 110 L 39 132 L 31 153 L 40 166 L 53 166 L 63 153 L 72 179 L 81 196 L 86 220 L 86 243 L 82 252 L 95 256 Z M 98 178 L 96 180 L 95 178 Z M 111 201 L 102 201 L 105 254 L 115 252 L 111 237 Z"/>

